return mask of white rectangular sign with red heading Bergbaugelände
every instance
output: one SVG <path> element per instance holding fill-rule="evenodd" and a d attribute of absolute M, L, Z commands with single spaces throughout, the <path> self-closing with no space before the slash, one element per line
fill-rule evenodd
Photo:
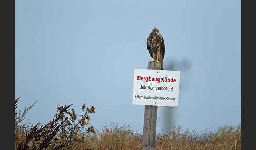
<path fill-rule="evenodd" d="M 178 106 L 180 71 L 134 69 L 132 104 Z"/>

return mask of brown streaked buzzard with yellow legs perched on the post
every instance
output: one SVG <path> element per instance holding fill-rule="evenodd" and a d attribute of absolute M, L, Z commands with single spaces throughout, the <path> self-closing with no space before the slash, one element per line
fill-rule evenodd
<path fill-rule="evenodd" d="M 163 36 L 159 33 L 157 28 L 152 28 L 150 35 L 146 42 L 147 50 L 154 62 L 161 63 L 161 70 L 163 70 L 163 58 L 165 52 Z"/>

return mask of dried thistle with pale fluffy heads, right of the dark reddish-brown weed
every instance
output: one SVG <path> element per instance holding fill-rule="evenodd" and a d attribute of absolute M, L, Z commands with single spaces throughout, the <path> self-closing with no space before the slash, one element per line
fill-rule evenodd
<path fill-rule="evenodd" d="M 89 136 L 91 133 L 96 133 L 93 126 L 86 129 L 86 126 L 90 123 L 90 117 L 88 115 L 95 113 L 96 108 L 93 105 L 86 109 L 85 107 L 86 105 L 84 103 L 81 108 L 81 115 L 77 115 L 74 109 L 64 111 L 61 105 L 57 107 L 58 113 L 61 116 L 61 130 L 58 132 L 53 142 L 56 147 L 71 149 L 75 147 L 77 143 L 82 143 L 86 136 Z"/>

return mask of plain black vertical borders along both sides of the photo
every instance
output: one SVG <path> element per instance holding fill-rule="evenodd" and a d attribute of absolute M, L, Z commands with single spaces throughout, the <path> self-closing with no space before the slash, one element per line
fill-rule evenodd
<path fill-rule="evenodd" d="M 20 1 L 20 0 L 17 0 Z M 251 2 L 251 3 L 249 3 Z M 252 84 L 253 79 L 252 73 L 254 71 L 255 62 L 253 55 L 249 54 L 249 51 L 254 51 L 255 47 L 253 42 L 255 39 L 255 5 L 253 1 L 241 1 L 241 126 L 242 126 L 242 149 L 253 149 L 255 146 L 254 142 L 254 115 L 253 112 L 253 101 L 254 95 L 253 88 L 249 88 Z M 1 30 L 2 30 L 2 49 L 1 49 L 1 79 L 2 79 L 2 90 L 1 98 L 2 102 L 2 138 L 4 149 L 15 149 L 15 0 L 1 1 Z M 250 72 L 249 67 L 251 67 Z M 246 70 L 246 71 L 245 71 Z M 248 75 L 252 77 L 249 77 Z M 254 76 L 255 77 L 255 76 Z M 248 87 L 249 85 L 249 87 Z M 249 95 L 249 92 L 251 95 Z M 246 123 L 245 123 L 246 122 Z M 254 136 L 253 136 L 254 135 Z M 5 148 L 7 147 L 7 148 Z"/>

